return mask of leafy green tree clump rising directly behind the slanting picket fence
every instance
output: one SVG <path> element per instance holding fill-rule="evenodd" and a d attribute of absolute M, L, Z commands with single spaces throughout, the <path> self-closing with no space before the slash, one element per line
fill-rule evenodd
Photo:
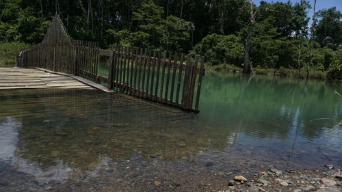
<path fill-rule="evenodd" d="M 133 23 L 136 31 L 126 29 L 115 31 L 108 29 L 107 33 L 116 46 L 140 46 L 148 49 L 188 51 L 190 31 L 194 29 L 189 23 L 176 16 L 163 19 L 163 8 L 148 1 L 137 12 L 133 12 Z"/>

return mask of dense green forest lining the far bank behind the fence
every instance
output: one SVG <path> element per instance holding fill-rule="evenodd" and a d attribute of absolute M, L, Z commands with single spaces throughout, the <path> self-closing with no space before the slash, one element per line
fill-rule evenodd
<path fill-rule="evenodd" d="M 57 12 L 71 37 L 102 49 L 178 51 L 205 56 L 215 70 L 249 63 L 257 74 L 341 80 L 342 14 L 311 8 L 306 0 L 1 0 L 0 64 L 41 42 Z"/>

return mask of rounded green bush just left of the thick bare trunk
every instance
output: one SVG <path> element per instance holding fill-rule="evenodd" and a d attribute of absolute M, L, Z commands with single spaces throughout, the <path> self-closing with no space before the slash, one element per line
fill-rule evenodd
<path fill-rule="evenodd" d="M 244 44 L 235 35 L 211 34 L 194 47 L 194 53 L 205 56 L 206 61 L 213 65 L 241 66 L 244 61 Z"/>

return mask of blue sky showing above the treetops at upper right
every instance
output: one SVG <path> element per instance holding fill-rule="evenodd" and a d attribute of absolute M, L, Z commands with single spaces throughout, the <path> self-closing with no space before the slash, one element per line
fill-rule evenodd
<path fill-rule="evenodd" d="M 252 0 L 253 3 L 255 3 L 256 5 L 260 5 L 260 1 L 262 0 Z M 263 0 L 266 2 L 271 3 L 272 0 Z M 289 0 L 273 0 L 273 2 L 283 2 L 283 3 L 287 3 L 287 1 Z M 308 0 L 311 4 L 311 10 L 309 10 L 308 12 L 308 16 L 311 18 L 313 16 L 313 3 L 315 2 L 314 0 Z M 290 0 L 290 2 L 292 4 L 300 2 L 300 0 Z M 342 12 L 342 0 L 316 0 L 316 12 L 321 10 L 321 9 L 328 9 L 328 8 L 332 8 L 332 7 L 336 7 L 337 10 L 339 10 L 340 12 Z M 310 22 L 308 23 L 308 25 L 311 25 L 312 20 L 310 20 Z"/>

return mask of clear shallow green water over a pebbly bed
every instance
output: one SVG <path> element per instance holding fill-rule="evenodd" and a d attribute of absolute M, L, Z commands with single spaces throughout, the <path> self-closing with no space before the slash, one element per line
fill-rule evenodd
<path fill-rule="evenodd" d="M 341 83 L 207 72 L 194 115 L 96 90 L 3 90 L 0 191 L 205 191 L 269 165 L 341 167 L 335 91 Z"/>

